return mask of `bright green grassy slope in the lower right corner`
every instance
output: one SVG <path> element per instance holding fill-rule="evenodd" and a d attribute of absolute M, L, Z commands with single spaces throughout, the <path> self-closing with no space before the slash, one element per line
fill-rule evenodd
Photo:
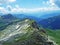
<path fill-rule="evenodd" d="M 60 45 L 60 30 L 46 29 L 49 36 L 53 37 L 53 40 Z"/>

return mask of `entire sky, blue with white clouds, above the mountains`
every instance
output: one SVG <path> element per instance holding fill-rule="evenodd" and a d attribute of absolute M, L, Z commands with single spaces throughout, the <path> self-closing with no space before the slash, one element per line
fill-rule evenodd
<path fill-rule="evenodd" d="M 0 0 L 0 13 L 35 13 L 60 10 L 60 0 Z"/>

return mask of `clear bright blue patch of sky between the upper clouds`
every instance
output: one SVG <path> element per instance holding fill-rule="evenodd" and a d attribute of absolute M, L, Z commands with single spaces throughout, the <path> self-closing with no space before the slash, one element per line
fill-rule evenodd
<path fill-rule="evenodd" d="M 19 0 L 17 1 L 17 4 L 19 4 L 23 8 L 38 8 L 38 7 L 43 7 L 44 0 Z M 47 0 L 45 0 L 47 1 Z"/>

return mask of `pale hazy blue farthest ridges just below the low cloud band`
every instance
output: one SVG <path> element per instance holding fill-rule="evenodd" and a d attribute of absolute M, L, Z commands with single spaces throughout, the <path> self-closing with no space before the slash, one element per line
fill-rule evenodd
<path fill-rule="evenodd" d="M 43 19 L 47 19 L 49 17 L 54 17 L 57 15 L 60 15 L 60 10 L 56 11 L 47 11 L 47 12 L 36 12 L 36 13 L 31 13 L 31 14 L 12 14 L 13 16 L 23 19 L 23 18 L 30 18 L 36 21 L 40 21 Z"/>

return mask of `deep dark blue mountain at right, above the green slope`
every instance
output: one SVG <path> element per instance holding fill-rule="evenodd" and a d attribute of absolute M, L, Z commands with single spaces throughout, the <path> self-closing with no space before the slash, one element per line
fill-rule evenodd
<path fill-rule="evenodd" d="M 60 29 L 60 15 L 43 19 L 39 24 L 44 28 Z"/>

